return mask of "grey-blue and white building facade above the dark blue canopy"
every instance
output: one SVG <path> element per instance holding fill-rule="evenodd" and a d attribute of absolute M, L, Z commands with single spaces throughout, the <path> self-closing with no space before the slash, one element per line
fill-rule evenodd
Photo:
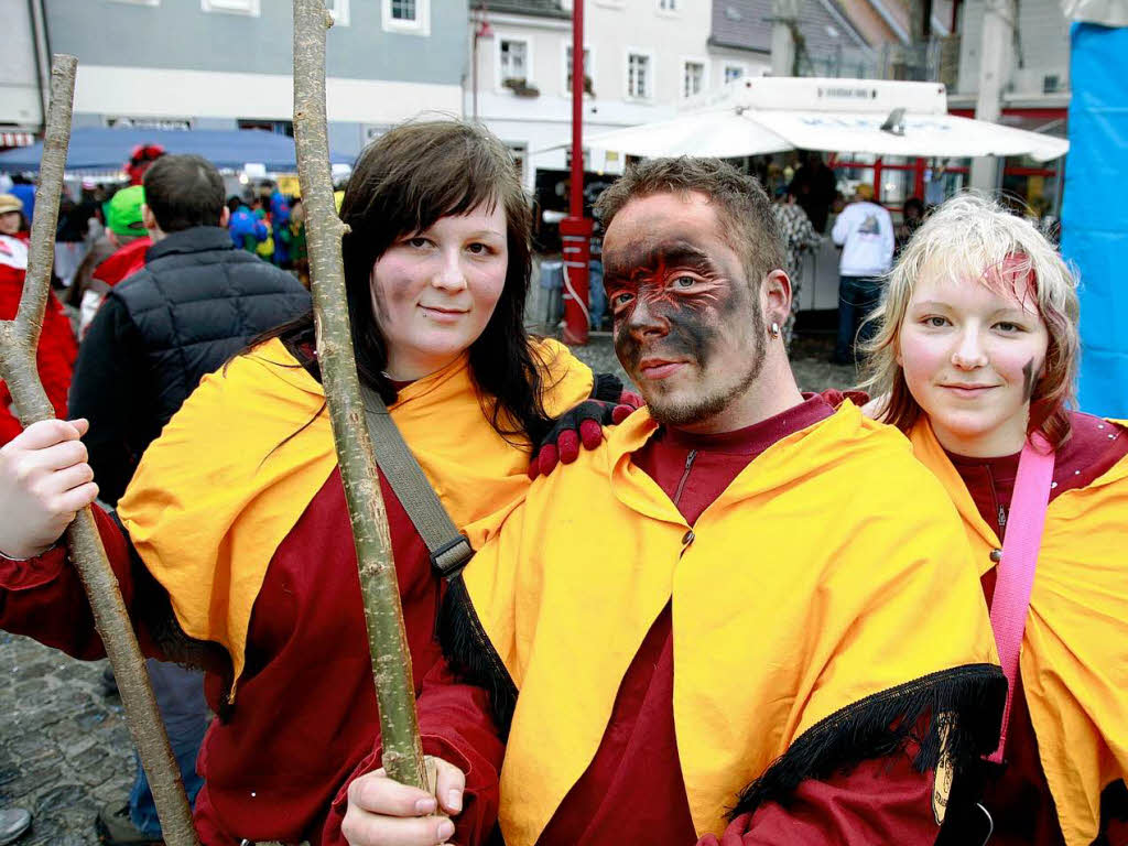
<path fill-rule="evenodd" d="M 50 51 L 78 56 L 74 126 L 292 133 L 289 2 L 32 0 L 29 6 L 42 10 Z M 326 0 L 326 6 L 336 20 L 326 56 L 334 151 L 355 155 L 388 125 L 418 114 L 461 113 L 466 0 Z M 20 38 L 32 45 L 35 34 Z M 0 88 L 6 102 L 15 104 L 18 94 L 28 114 L 37 94 L 34 68 L 10 74 L 12 82 Z"/>

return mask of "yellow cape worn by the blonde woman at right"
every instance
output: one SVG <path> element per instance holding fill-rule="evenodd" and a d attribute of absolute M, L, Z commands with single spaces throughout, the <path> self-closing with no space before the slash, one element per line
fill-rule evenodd
<path fill-rule="evenodd" d="M 927 421 L 916 456 L 955 503 L 980 574 L 1002 546 Z M 1128 458 L 1046 512 L 1019 668 L 1068 846 L 1096 837 L 1101 791 L 1128 778 Z"/>

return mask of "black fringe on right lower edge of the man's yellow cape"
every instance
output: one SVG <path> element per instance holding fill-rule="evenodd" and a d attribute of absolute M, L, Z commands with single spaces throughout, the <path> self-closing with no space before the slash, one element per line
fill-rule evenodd
<path fill-rule="evenodd" d="M 994 664 L 967 664 L 929 673 L 836 711 L 804 731 L 784 755 L 740 792 L 732 819 L 766 802 L 786 804 L 808 778 L 828 778 L 863 760 L 919 744 L 913 765 L 920 773 L 940 761 L 941 734 L 936 714 L 953 713 L 948 751 L 957 775 L 998 744 L 1006 677 Z M 923 735 L 918 723 L 928 717 Z"/>

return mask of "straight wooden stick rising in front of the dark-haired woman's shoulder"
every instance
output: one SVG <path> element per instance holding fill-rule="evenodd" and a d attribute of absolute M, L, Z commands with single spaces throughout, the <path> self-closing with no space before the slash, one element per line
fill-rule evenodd
<path fill-rule="evenodd" d="M 391 534 L 380 496 L 349 327 L 341 257 L 341 238 L 347 227 L 341 222 L 333 203 L 325 114 L 325 32 L 331 26 L 333 18 L 323 0 L 293 0 L 293 129 L 301 201 L 306 206 L 317 360 L 356 546 L 380 708 L 384 767 L 397 782 L 429 790 Z"/>

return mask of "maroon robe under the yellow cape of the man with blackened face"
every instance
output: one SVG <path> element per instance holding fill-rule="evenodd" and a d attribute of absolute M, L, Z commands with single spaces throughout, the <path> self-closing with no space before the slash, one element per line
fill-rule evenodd
<path fill-rule="evenodd" d="M 840 395 L 828 391 L 828 398 L 838 402 Z M 809 396 L 737 432 L 708 437 L 667 429 L 636 452 L 634 461 L 693 526 L 756 456 L 832 413 L 827 399 Z M 678 761 L 673 672 L 667 606 L 623 678 L 593 760 L 561 802 L 538 846 L 690 846 L 697 840 Z M 931 844 L 937 834 L 931 779 L 913 768 L 913 752 L 866 761 L 826 781 L 805 781 L 786 809 L 768 803 L 751 817 L 738 818 L 724 846 Z M 708 835 L 700 843 L 716 844 L 716 838 Z"/>

